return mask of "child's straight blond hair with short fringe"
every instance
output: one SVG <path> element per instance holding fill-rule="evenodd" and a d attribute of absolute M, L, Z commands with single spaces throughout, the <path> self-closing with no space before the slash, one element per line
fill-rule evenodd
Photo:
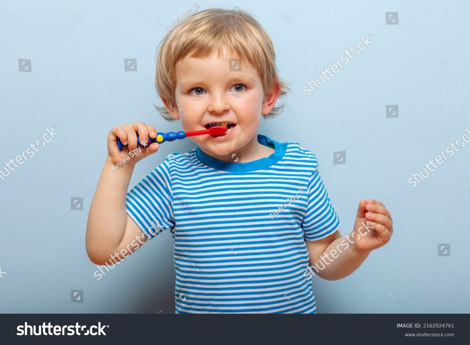
<path fill-rule="evenodd" d="M 277 75 L 274 47 L 269 35 L 253 16 L 239 8 L 209 8 L 189 16 L 166 35 L 159 47 L 155 88 L 171 108 L 176 107 L 176 63 L 186 56 L 210 56 L 214 50 L 220 57 L 224 47 L 237 54 L 242 65 L 243 61 L 248 61 L 258 70 L 264 97 L 275 85 L 280 88 L 281 97 L 290 91 Z M 283 106 L 274 107 L 263 117 L 278 115 Z M 155 108 L 166 120 L 174 121 L 165 107 Z"/>

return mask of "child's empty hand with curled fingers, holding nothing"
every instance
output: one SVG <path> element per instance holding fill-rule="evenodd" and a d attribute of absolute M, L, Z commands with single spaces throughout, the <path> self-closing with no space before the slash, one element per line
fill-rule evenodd
<path fill-rule="evenodd" d="M 367 222 L 369 223 L 367 224 Z M 370 252 L 382 247 L 390 241 L 393 232 L 390 212 L 380 201 L 361 199 L 357 208 L 353 231 L 354 238 L 352 240 L 354 244 L 352 246 L 358 252 Z"/>

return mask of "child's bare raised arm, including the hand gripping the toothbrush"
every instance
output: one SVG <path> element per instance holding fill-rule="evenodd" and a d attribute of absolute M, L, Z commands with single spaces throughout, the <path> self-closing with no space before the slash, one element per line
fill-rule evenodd
<path fill-rule="evenodd" d="M 155 138 L 157 131 L 153 126 L 138 122 L 114 127 L 108 135 L 108 157 L 94 193 L 86 225 L 86 252 L 90 260 L 98 265 L 103 265 L 110 259 L 110 256 L 120 259 L 119 252 L 123 249 L 132 253 L 133 251 L 129 251 L 129 246 L 133 241 L 138 243 L 137 236 L 140 236 L 139 244 L 147 240 L 145 236 L 141 236 L 141 229 L 127 215 L 125 198 L 135 164 L 142 158 L 157 152 L 158 143 L 152 143 L 145 149 L 141 149 L 140 153 L 134 155 L 118 169 L 113 168 L 113 165 L 116 167 L 126 154 L 129 157 L 130 150 L 137 148 L 137 135 L 140 138 L 148 136 Z M 124 147 L 122 151 L 119 151 L 118 137 L 124 145 L 128 144 L 128 148 Z M 139 246 L 135 249 L 138 248 Z"/>

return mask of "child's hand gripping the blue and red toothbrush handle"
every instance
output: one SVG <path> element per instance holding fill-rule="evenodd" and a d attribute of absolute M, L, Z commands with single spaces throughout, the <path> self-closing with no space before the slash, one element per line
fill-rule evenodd
<path fill-rule="evenodd" d="M 141 145 L 137 148 L 137 136 L 141 141 L 144 141 L 145 144 L 148 143 L 149 137 L 154 139 L 157 138 L 157 130 L 154 126 L 146 125 L 143 122 L 135 122 L 129 125 L 120 125 L 112 128 L 108 134 L 108 158 L 107 161 L 115 165 L 121 161 L 125 155 L 128 155 L 130 160 L 126 160 L 124 166 L 134 166 L 142 158 L 147 157 L 158 151 L 160 145 L 157 142 L 146 146 L 145 148 Z M 118 148 L 118 138 L 123 145 L 122 151 L 119 151 Z M 129 151 L 137 149 L 137 154 L 133 152 L 133 157 L 129 155 Z M 139 151 L 140 149 L 140 151 Z"/>

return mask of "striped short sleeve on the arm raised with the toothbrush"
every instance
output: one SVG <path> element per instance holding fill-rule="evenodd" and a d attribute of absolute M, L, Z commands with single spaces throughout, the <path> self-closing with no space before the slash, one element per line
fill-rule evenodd
<path fill-rule="evenodd" d="M 125 208 L 151 238 L 174 227 L 168 157 L 127 193 Z"/>

